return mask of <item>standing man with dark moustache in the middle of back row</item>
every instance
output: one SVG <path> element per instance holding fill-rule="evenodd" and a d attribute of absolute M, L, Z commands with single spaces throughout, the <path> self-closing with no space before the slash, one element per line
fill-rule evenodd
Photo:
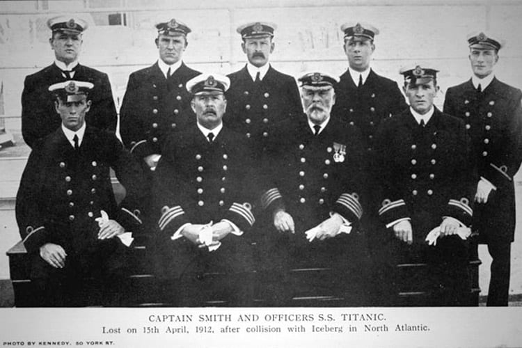
<path fill-rule="evenodd" d="M 301 116 L 303 107 L 295 79 L 269 64 L 274 52 L 275 24 L 248 23 L 237 28 L 248 58 L 246 66 L 229 74 L 225 123 L 246 136 L 257 150 L 266 148 L 271 126 L 286 118 Z"/>

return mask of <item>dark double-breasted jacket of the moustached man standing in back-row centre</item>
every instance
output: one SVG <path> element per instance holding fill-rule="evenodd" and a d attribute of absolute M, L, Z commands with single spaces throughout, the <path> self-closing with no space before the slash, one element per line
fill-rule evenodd
<path fill-rule="evenodd" d="M 227 113 L 223 122 L 250 139 L 255 149 L 266 148 L 274 124 L 303 113 L 296 81 L 290 75 L 270 66 L 257 85 L 245 65 L 228 77 L 230 88 L 225 93 Z"/>

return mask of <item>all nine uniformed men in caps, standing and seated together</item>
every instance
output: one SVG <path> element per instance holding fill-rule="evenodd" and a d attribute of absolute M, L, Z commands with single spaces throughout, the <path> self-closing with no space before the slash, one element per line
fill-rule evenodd
<path fill-rule="evenodd" d="M 87 23 L 47 24 L 55 61 L 24 83 L 32 152 L 16 206 L 38 306 L 82 306 L 86 276 L 104 305 L 125 306 L 140 231 L 153 233 L 157 276 L 180 306 L 202 305 L 212 272 L 228 274 L 219 291 L 231 306 L 249 306 L 254 269 L 271 276 L 268 304 L 286 306 L 288 271 L 310 267 L 335 269 L 350 306 L 393 306 L 400 262 L 428 265 L 425 305 L 466 306 L 475 234 L 493 258 L 487 304 L 507 306 L 522 93 L 493 73 L 497 38 L 468 37 L 473 75 L 441 112 L 432 65 L 400 70 L 408 104 L 370 68 L 369 24 L 341 26 L 340 78 L 306 72 L 299 89 L 269 64 L 276 25 L 239 26 L 248 62 L 226 77 L 183 63 L 191 29 L 171 19 L 156 26 L 158 61 L 129 77 L 121 143 L 107 75 L 78 62 Z"/>

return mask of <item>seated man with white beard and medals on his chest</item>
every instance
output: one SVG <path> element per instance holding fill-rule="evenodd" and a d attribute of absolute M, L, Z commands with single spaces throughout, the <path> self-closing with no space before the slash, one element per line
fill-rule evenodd
<path fill-rule="evenodd" d="M 360 306 L 366 258 L 358 230 L 365 191 L 361 136 L 356 127 L 331 118 L 337 77 L 310 72 L 299 82 L 306 114 L 276 126 L 277 141 L 264 164 L 264 260 L 280 270 L 269 273 L 283 277 L 276 280 L 282 286 L 274 290 L 275 304 L 288 304 L 296 291 L 283 284 L 289 269 L 328 267 L 345 273 L 339 280 L 351 284 L 347 304 Z"/>

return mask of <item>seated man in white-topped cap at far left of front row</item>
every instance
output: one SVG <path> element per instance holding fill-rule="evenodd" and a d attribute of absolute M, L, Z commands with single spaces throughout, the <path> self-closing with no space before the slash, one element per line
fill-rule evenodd
<path fill-rule="evenodd" d="M 62 124 L 35 143 L 17 193 L 16 216 L 31 255 L 35 306 L 84 306 L 86 277 L 102 279 L 103 303 L 120 304 L 131 234 L 141 221 L 141 169 L 116 136 L 86 125 L 93 84 L 65 81 L 56 95 Z M 114 198 L 109 168 L 127 190 Z M 84 301 L 85 300 L 85 301 Z"/>

